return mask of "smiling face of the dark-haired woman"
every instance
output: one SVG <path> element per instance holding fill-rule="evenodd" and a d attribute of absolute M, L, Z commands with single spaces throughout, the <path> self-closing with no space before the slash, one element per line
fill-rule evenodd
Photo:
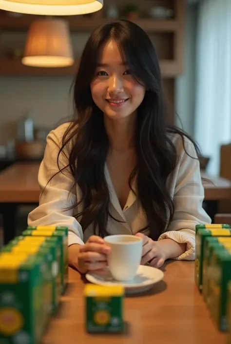
<path fill-rule="evenodd" d="M 96 75 L 91 82 L 92 98 L 111 119 L 135 113 L 145 95 L 145 87 L 130 75 L 114 41 L 107 43 L 99 56 Z"/>

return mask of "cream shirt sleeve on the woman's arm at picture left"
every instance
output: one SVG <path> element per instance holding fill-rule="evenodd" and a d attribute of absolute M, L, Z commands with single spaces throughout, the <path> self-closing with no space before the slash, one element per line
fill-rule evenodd
<path fill-rule="evenodd" d="M 82 228 L 73 216 L 72 207 L 77 200 L 76 193 L 72 189 L 73 177 L 68 169 L 59 172 L 57 165 L 60 142 L 64 133 L 58 129 L 51 131 L 47 136 L 44 158 L 39 167 L 39 206 L 28 215 L 28 225 L 66 226 L 69 229 L 68 245 L 84 244 Z M 68 165 L 68 158 L 63 152 L 58 162 L 60 169 Z M 50 180 L 51 177 L 53 178 Z"/>

